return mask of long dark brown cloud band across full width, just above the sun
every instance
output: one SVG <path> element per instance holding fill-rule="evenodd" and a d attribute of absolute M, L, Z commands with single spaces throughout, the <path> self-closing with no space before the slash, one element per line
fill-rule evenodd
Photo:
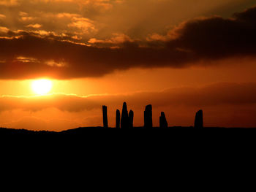
<path fill-rule="evenodd" d="M 134 67 L 191 66 L 198 61 L 255 56 L 256 8 L 233 18 L 197 18 L 148 41 L 72 42 L 42 31 L 7 31 L 0 28 L 0 78 L 100 77 Z M 159 37 L 159 36 L 158 36 Z"/>

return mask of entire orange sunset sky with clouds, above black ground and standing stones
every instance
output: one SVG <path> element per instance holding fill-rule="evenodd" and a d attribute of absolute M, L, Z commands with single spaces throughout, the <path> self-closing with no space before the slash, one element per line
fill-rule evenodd
<path fill-rule="evenodd" d="M 256 127 L 252 0 L 0 0 L 0 127 Z M 47 79 L 48 94 L 33 83 Z M 40 89 L 42 85 L 37 85 Z"/>

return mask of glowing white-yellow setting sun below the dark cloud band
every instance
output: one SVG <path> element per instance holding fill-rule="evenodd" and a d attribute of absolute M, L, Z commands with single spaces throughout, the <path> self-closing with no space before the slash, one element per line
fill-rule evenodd
<path fill-rule="evenodd" d="M 52 87 L 53 83 L 50 80 L 34 80 L 31 84 L 32 90 L 38 95 L 49 93 Z"/>

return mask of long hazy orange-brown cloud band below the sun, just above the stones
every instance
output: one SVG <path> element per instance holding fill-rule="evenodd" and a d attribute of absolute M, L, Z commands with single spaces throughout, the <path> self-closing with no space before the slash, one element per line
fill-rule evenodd
<path fill-rule="evenodd" d="M 222 105 L 256 104 L 255 83 L 217 83 L 200 88 L 170 88 L 161 92 L 137 92 L 116 95 L 76 96 L 52 94 L 49 96 L 1 96 L 0 112 L 24 110 L 37 112 L 56 108 L 64 112 L 82 112 L 100 110 L 103 104 L 120 107 L 127 101 L 137 110 L 146 104 L 154 107 L 186 106 L 214 107 Z"/>

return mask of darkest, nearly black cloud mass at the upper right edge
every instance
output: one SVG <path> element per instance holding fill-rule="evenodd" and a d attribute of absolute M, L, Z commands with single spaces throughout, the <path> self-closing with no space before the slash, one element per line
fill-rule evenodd
<path fill-rule="evenodd" d="M 256 7 L 236 13 L 229 19 L 216 16 L 189 20 L 170 31 L 167 45 L 194 53 L 197 59 L 254 55 L 255 13 Z"/>

